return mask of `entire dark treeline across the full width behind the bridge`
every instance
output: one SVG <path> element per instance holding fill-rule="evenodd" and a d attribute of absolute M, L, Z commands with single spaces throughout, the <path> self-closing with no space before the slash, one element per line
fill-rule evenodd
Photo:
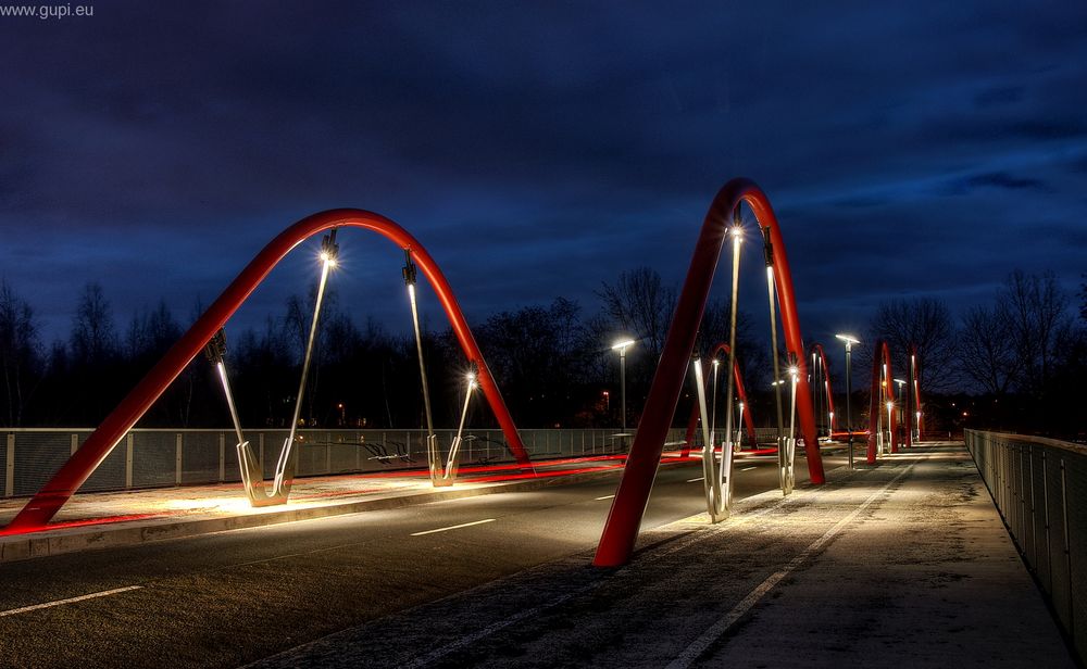
<path fill-rule="evenodd" d="M 619 356 L 611 344 L 634 337 L 627 356 L 627 422 L 637 425 L 667 335 L 677 292 L 650 268 L 623 273 L 597 291 L 598 308 L 558 298 L 548 304 L 491 315 L 473 331 L 511 413 L 523 427 L 616 427 Z M 1078 303 L 1076 299 L 1078 298 Z M 261 327 L 230 330 L 227 366 L 247 427 L 286 427 L 298 393 L 315 289 L 291 295 Z M 1076 313 L 1078 310 L 1078 313 Z M 727 341 L 728 305 L 711 302 L 699 346 Z M 759 314 L 760 326 L 765 314 Z M 0 281 L 0 425 L 98 425 L 180 337 L 196 313 L 180 319 L 160 302 L 118 325 L 97 283 L 76 300 L 66 340 L 46 344 L 34 306 Z M 738 358 L 751 411 L 773 415 L 767 337 L 755 336 L 740 313 Z M 895 376 L 903 378 L 910 343 L 917 346 L 927 429 L 998 428 L 1075 438 L 1084 431 L 1075 402 L 1087 374 L 1087 287 L 1062 291 L 1052 275 L 1015 272 L 991 302 L 958 317 L 936 299 L 878 306 L 854 357 L 854 424 L 867 424 L 871 344 L 886 339 Z M 839 404 L 841 355 L 823 342 Z M 435 424 L 459 417 L 468 371 L 449 329 L 423 328 Z M 223 427 L 228 424 L 218 380 L 203 356 L 178 377 L 140 426 Z M 723 379 L 722 379 L 723 380 Z M 404 428 L 423 425 L 418 363 L 411 335 L 372 319 L 355 323 L 332 291 L 305 389 L 302 418 L 320 427 Z M 684 393 L 679 415 L 691 397 Z M 840 411 L 840 409 L 839 409 Z M 492 425 L 479 397 L 475 426 Z M 1080 437 L 1082 438 L 1082 437 Z"/>

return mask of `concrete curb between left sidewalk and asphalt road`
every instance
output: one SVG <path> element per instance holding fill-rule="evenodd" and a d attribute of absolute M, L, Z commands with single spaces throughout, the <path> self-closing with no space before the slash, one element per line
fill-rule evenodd
<path fill-rule="evenodd" d="M 691 463 L 700 462 L 695 458 Z M 680 463 L 667 463 L 662 466 L 675 466 Z M 685 463 L 683 463 L 685 464 Z M 0 538 L 0 565 L 50 555 L 95 551 L 128 546 L 149 541 L 182 539 L 198 537 L 214 532 L 228 532 L 247 528 L 265 527 L 298 520 L 313 520 L 329 516 L 342 516 L 361 512 L 386 510 L 430 504 L 461 497 L 477 497 L 503 492 L 524 492 L 540 490 L 551 485 L 580 483 L 596 479 L 607 479 L 623 471 L 622 468 L 607 471 L 587 471 L 569 476 L 555 476 L 539 479 L 525 479 L 509 483 L 483 483 L 474 488 L 428 489 L 426 492 L 407 494 L 386 493 L 365 500 L 353 500 L 339 504 L 287 508 L 284 510 L 251 514 L 245 516 L 226 516 L 221 518 L 202 518 L 193 520 L 142 520 L 121 522 L 116 527 L 88 526 L 86 528 L 66 528 L 52 531 L 34 532 L 26 535 Z"/>

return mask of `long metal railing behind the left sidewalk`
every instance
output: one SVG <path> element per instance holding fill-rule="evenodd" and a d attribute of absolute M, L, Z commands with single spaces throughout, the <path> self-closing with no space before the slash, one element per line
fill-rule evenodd
<path fill-rule="evenodd" d="M 92 432 L 80 428 L 0 428 L 0 496 L 36 493 Z M 455 430 L 436 430 L 448 447 Z M 683 439 L 673 430 L 670 441 Z M 265 478 L 289 431 L 247 431 Z M 633 438 L 617 429 L 520 430 L 534 460 L 625 453 Z M 467 430 L 462 467 L 515 462 L 500 429 Z M 87 479 L 80 492 L 102 492 L 241 480 L 232 430 L 133 429 Z M 299 430 L 298 476 L 426 469 L 424 430 Z"/>

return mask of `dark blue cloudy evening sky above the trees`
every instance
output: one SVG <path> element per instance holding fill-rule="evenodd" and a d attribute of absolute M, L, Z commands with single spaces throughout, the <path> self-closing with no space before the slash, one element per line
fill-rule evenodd
<path fill-rule="evenodd" d="M 160 296 L 187 317 L 290 223 L 357 206 L 420 238 L 472 319 L 555 295 L 592 313 L 623 269 L 678 283 L 710 199 L 747 176 L 782 220 L 809 341 L 882 300 L 987 301 L 1014 267 L 1074 288 L 1087 3 L 804 4 L 0 17 L 0 275 L 48 339 L 89 280 L 122 327 Z M 399 251 L 341 242 L 340 306 L 405 328 Z M 750 251 L 741 308 L 762 316 Z M 314 272 L 296 253 L 242 321 Z"/>

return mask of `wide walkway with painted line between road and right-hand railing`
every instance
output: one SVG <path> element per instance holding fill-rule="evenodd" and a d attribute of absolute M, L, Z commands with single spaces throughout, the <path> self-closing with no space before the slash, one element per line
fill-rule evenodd
<path fill-rule="evenodd" d="M 839 460 L 840 462 L 840 460 Z M 279 667 L 1074 667 L 962 444 L 748 497 L 334 634 Z"/>

